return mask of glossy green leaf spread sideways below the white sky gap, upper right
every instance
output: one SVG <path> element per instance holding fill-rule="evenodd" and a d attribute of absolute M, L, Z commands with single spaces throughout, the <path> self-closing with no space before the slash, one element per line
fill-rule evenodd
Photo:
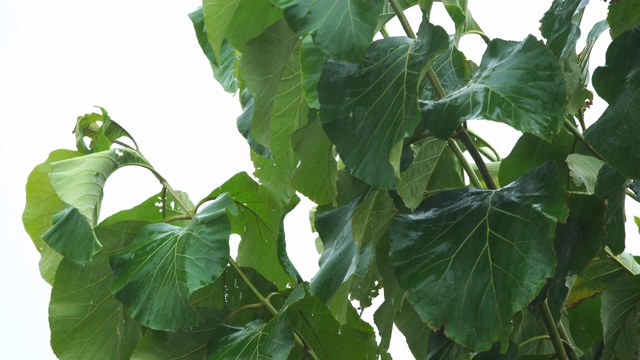
<path fill-rule="evenodd" d="M 565 94 L 560 65 L 541 42 L 496 39 L 465 87 L 421 101 L 422 119 L 443 139 L 466 120 L 486 119 L 551 141 L 564 121 Z"/>

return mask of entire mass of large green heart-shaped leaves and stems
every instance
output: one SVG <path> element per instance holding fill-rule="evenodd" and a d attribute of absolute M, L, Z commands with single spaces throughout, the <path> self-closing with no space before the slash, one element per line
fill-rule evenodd
<path fill-rule="evenodd" d="M 429 21 L 441 5 L 453 34 Z M 466 0 L 203 0 L 190 18 L 215 78 L 240 94 L 255 177 L 194 204 L 104 109 L 79 117 L 77 149 L 36 166 L 23 214 L 53 286 L 53 350 L 390 359 L 395 325 L 420 359 L 636 358 L 624 203 L 640 188 L 640 3 L 610 4 L 578 50 L 587 6 L 554 0 L 544 40 L 515 42 L 490 39 Z M 389 36 L 395 17 L 405 36 Z M 464 36 L 486 42 L 479 64 Z M 590 79 L 609 106 L 587 127 Z M 502 159 L 474 119 L 523 134 Z M 107 178 L 130 165 L 159 193 L 98 222 Z M 317 204 L 312 279 L 286 253 L 298 194 Z M 352 305 L 377 296 L 379 341 Z"/>

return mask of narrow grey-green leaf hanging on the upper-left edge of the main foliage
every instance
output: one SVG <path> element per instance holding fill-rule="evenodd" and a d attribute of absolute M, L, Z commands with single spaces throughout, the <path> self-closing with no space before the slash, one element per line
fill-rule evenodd
<path fill-rule="evenodd" d="M 207 38 L 202 7 L 191 12 L 189 14 L 189 18 L 193 23 L 193 28 L 196 32 L 200 48 L 202 48 L 205 56 L 209 59 L 211 69 L 213 70 L 213 76 L 218 80 L 226 92 L 235 93 L 238 91 L 238 80 L 235 76 L 236 54 L 233 51 L 233 47 L 227 39 L 223 39 L 218 53 L 220 60 L 218 60 L 218 57 L 216 57 L 213 47 Z"/>

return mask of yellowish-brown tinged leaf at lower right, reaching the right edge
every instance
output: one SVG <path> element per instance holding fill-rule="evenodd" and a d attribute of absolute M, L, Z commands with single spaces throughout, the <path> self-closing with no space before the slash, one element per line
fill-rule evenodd
<path fill-rule="evenodd" d="M 618 255 L 618 260 L 635 274 L 640 274 L 640 265 L 628 253 Z M 573 307 L 583 299 L 602 293 L 618 279 L 626 279 L 631 275 L 612 259 L 596 259 L 576 278 L 567 298 L 567 306 Z M 623 281 L 623 280 L 620 280 Z"/>

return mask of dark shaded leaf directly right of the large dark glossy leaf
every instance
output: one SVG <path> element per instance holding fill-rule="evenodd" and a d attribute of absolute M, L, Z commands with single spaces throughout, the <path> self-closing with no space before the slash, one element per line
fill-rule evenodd
<path fill-rule="evenodd" d="M 569 218 L 556 227 L 557 279 L 563 281 L 567 275 L 578 275 L 602 250 L 605 211 L 602 198 L 576 193 L 569 195 Z"/>

